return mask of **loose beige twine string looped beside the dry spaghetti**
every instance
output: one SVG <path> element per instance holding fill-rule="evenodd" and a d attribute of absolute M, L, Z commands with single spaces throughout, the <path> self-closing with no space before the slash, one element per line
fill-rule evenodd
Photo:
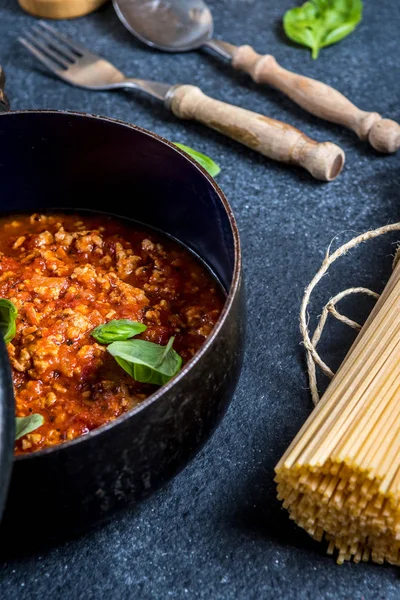
<path fill-rule="evenodd" d="M 318 391 L 318 383 L 317 383 L 317 367 L 319 367 L 321 369 L 321 371 L 324 373 L 324 375 L 326 375 L 330 379 L 332 379 L 335 375 L 334 372 L 322 360 L 322 358 L 320 357 L 320 355 L 317 352 L 317 345 L 321 339 L 328 316 L 332 315 L 335 319 L 337 319 L 338 321 L 341 321 L 342 323 L 345 323 L 349 327 L 356 329 L 356 330 L 360 330 L 361 325 L 359 323 L 356 323 L 352 319 L 349 319 L 342 313 L 340 313 L 338 311 L 338 309 L 336 308 L 336 304 L 338 302 L 340 302 L 343 298 L 345 298 L 346 296 L 349 296 L 351 294 L 365 294 L 367 296 L 374 298 L 375 300 L 377 300 L 379 298 L 379 294 L 377 294 L 376 292 L 374 292 L 372 290 L 369 290 L 368 288 L 364 288 L 364 287 L 348 288 L 347 290 L 343 290 L 339 294 L 336 294 L 336 296 L 333 296 L 333 298 L 331 298 L 325 304 L 325 306 L 322 310 L 321 316 L 319 317 L 317 326 L 312 335 L 310 334 L 310 331 L 308 328 L 308 323 L 309 323 L 308 306 L 310 304 L 311 294 L 314 291 L 314 288 L 317 286 L 317 284 L 324 277 L 324 275 L 326 275 L 329 267 L 336 260 L 338 260 L 338 258 L 340 258 L 341 256 L 344 256 L 345 254 L 347 254 L 347 252 L 349 250 L 351 250 L 352 248 L 355 248 L 356 246 L 359 246 L 363 242 L 374 239 L 381 235 L 385 235 L 386 233 L 391 233 L 393 231 L 400 231 L 400 223 L 393 223 L 391 225 L 385 225 L 384 227 L 379 227 L 378 229 L 366 231 L 365 233 L 362 233 L 362 234 L 352 238 L 351 240 L 349 240 L 348 242 L 346 242 L 345 244 L 343 244 L 342 246 L 337 248 L 331 254 L 331 247 L 332 247 L 333 241 L 335 240 L 335 238 L 333 238 L 333 240 L 331 241 L 331 243 L 328 246 L 328 249 L 326 251 L 325 258 L 322 261 L 321 267 L 319 268 L 319 270 L 314 275 L 313 279 L 311 280 L 311 282 L 305 289 L 303 300 L 301 303 L 301 309 L 300 309 L 300 332 L 301 332 L 301 335 L 303 338 L 303 345 L 306 349 L 308 381 L 309 381 L 309 386 L 310 386 L 310 391 L 311 391 L 311 397 L 312 397 L 313 403 L 315 405 L 317 405 L 320 400 L 319 391 Z M 400 260 L 400 247 L 398 247 L 396 250 L 396 254 L 394 256 L 393 265 L 392 265 L 393 268 L 396 266 L 396 264 L 399 260 Z"/>

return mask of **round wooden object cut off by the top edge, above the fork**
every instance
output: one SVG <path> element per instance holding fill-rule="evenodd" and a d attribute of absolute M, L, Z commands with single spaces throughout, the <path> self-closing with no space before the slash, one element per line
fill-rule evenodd
<path fill-rule="evenodd" d="M 18 0 L 20 6 L 35 17 L 73 19 L 87 15 L 107 0 Z"/>

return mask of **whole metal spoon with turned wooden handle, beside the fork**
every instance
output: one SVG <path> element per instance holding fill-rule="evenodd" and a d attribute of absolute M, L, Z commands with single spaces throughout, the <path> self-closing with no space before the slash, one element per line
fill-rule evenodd
<path fill-rule="evenodd" d="M 400 125 L 395 121 L 360 110 L 325 83 L 284 69 L 271 55 L 213 39 L 212 14 L 203 0 L 113 0 L 113 4 L 125 27 L 148 46 L 167 52 L 211 48 L 256 83 L 272 85 L 317 117 L 352 129 L 376 150 L 400 148 Z"/>

